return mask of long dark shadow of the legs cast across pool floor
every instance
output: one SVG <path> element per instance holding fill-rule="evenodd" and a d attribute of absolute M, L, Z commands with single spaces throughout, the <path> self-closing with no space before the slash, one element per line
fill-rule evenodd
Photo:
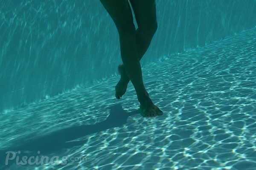
<path fill-rule="evenodd" d="M 28 152 L 40 151 L 41 154 L 54 153 L 56 151 L 83 145 L 84 141 L 69 142 L 92 133 L 98 133 L 113 127 L 120 127 L 127 123 L 129 116 L 139 113 L 138 110 L 126 113 L 120 104 L 111 106 L 111 111 L 106 120 L 94 125 L 81 125 L 58 130 L 46 136 L 26 141 L 20 146 L 0 150 L 0 166 L 5 164 L 7 151 L 21 151 L 20 158 Z M 12 155 L 10 154 L 10 157 Z M 4 166 L 3 168 L 7 168 Z"/>

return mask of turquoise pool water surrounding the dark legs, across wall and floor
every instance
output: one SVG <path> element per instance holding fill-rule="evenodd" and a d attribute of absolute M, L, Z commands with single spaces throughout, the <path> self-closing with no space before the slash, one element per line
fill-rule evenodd
<path fill-rule="evenodd" d="M 251 17 L 255 5 L 249 3 L 253 1 L 234 1 L 228 4 L 231 9 L 223 7 L 224 1 L 218 5 L 202 1 L 200 16 L 209 20 L 199 19 L 195 27 L 192 23 L 197 17 L 188 19 L 193 18 L 190 12 L 185 13 L 187 23 L 180 26 L 173 26 L 166 14 L 174 8 L 177 21 L 182 20 L 179 14 L 184 9 L 196 10 L 198 2 L 157 2 L 160 23 L 170 22 L 158 29 L 142 70 L 145 87 L 164 114 L 149 118 L 140 116 L 131 82 L 126 94 L 120 100 L 115 98 L 116 68 L 121 59 L 113 37 L 118 36 L 100 3 L 42 2 L 0 3 L 1 170 L 256 169 L 256 28 Z M 219 14 L 219 10 L 209 11 L 206 16 L 204 5 L 224 9 Z M 94 9 L 82 13 L 85 6 Z M 55 30 L 50 27 L 54 20 L 42 22 L 57 7 L 58 21 L 74 25 Z M 35 18 L 41 20 L 34 20 L 34 26 L 39 26 L 33 27 L 32 11 L 40 8 Z M 15 15 L 17 11 L 20 15 Z M 235 13 L 247 17 L 237 18 Z M 92 16 L 98 16 L 106 27 L 101 30 L 91 19 L 94 27 L 87 22 L 78 29 L 80 18 Z M 198 26 L 209 23 L 205 32 Z M 100 33 L 93 32 L 94 28 Z M 38 32 L 26 32 L 29 29 Z M 96 34 L 102 35 L 99 42 L 105 48 L 96 50 L 97 42 L 90 42 Z M 57 35 L 61 40 L 55 39 Z M 108 36 L 112 37 L 109 42 Z M 109 55 L 103 58 L 103 54 Z M 80 72 L 82 69 L 85 71 Z M 88 79 L 93 83 L 87 84 Z M 6 165 L 8 153 L 15 158 Z M 17 164 L 32 156 L 38 156 L 39 164 Z M 44 159 L 40 164 L 42 156 L 54 161 Z"/>

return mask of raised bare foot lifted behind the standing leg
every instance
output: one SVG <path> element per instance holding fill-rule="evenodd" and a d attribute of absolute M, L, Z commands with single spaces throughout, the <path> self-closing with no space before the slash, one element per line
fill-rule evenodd
<path fill-rule="evenodd" d="M 119 72 L 121 78 L 115 87 L 116 99 L 120 99 L 120 97 L 122 97 L 125 94 L 127 85 L 130 81 L 130 79 L 125 71 L 125 66 L 123 64 L 120 64 L 118 66 L 118 72 Z"/>

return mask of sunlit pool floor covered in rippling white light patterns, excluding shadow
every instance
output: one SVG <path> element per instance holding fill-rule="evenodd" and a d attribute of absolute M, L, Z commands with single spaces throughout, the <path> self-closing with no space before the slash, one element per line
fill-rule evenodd
<path fill-rule="evenodd" d="M 137 114 L 131 83 L 116 100 L 119 77 L 1 115 L 1 150 L 64 128 L 93 125 L 99 130 L 88 129 L 91 133 L 73 141 L 78 145 L 48 154 L 86 161 L 37 165 L 37 170 L 254 170 L 255 47 L 253 29 L 143 67 L 145 86 L 163 116 Z M 125 117 L 120 123 L 119 112 Z M 116 126 L 101 124 L 108 116 Z M 10 169 L 35 169 L 10 162 Z"/>

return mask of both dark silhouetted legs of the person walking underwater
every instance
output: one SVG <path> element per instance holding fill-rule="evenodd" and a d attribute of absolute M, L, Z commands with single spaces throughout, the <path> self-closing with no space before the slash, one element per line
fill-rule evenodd
<path fill-rule="evenodd" d="M 130 0 L 138 23 L 137 30 L 135 30 L 131 7 L 127 0 L 100 1 L 113 19 L 119 33 L 123 65 L 119 65 L 118 69 L 121 79 L 116 85 L 118 92 L 116 98 L 119 99 L 125 93 L 130 79 L 140 102 L 142 116 L 162 115 L 163 112 L 153 104 L 144 87 L 140 66 L 140 59 L 147 51 L 157 30 L 155 1 Z"/>

